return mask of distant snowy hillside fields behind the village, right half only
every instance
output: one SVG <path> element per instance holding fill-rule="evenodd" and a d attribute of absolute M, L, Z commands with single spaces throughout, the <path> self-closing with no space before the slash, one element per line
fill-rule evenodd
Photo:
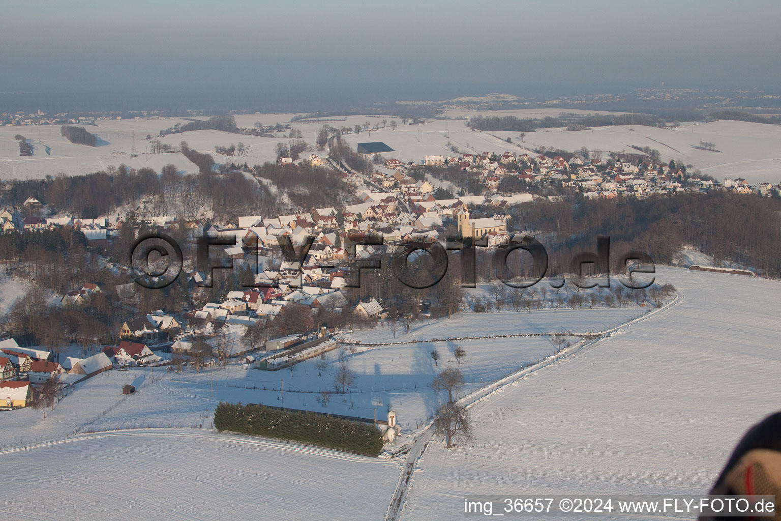
<path fill-rule="evenodd" d="M 551 114 L 523 114 L 519 111 L 495 112 L 496 115 L 541 117 Z M 556 112 L 555 115 L 558 115 Z M 451 115 L 452 116 L 452 115 Z M 781 126 L 743 121 L 686 123 L 682 127 L 664 130 L 656 127 L 596 127 L 594 130 L 569 132 L 563 128 L 538 129 L 526 132 L 523 141 L 518 132 L 480 132 L 466 127 L 465 120 L 433 120 L 419 125 L 383 129 L 365 134 L 348 135 L 352 144 L 362 141 L 383 141 L 394 152 L 384 154 L 405 162 L 423 160 L 424 155 L 452 155 L 448 142 L 460 152 L 503 152 L 516 154 L 533 148 L 562 148 L 576 151 L 581 147 L 606 152 L 637 152 L 632 145 L 656 148 L 662 160 L 670 159 L 691 164 L 716 179 L 744 177 L 752 184 L 761 181 L 781 182 Z M 504 140 L 510 137 L 511 143 Z M 701 141 L 715 143 L 721 152 L 693 148 Z"/>

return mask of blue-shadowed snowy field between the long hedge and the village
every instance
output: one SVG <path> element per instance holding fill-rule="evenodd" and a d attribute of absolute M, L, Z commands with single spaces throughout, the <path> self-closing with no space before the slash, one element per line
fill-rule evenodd
<path fill-rule="evenodd" d="M 438 407 L 441 396 L 429 389 L 434 374 L 447 366 L 465 373 L 464 392 L 503 378 L 523 366 L 555 351 L 547 337 L 505 337 L 496 335 L 555 333 L 574 334 L 601 331 L 642 315 L 637 306 L 616 309 L 548 309 L 533 312 L 464 312 L 452 319 L 414 323 L 409 334 L 401 325 L 393 337 L 389 327 L 354 330 L 344 334 L 350 341 L 383 344 L 358 347 L 348 365 L 358 375 L 351 393 L 335 395 L 327 412 L 382 418 L 388 404 L 398 413 L 405 430 L 416 430 Z M 451 337 L 473 340 L 431 341 Z M 568 337 L 574 343 L 578 337 Z M 402 344 L 393 344 L 401 342 Z M 467 355 L 459 365 L 453 356 L 456 347 Z M 431 351 L 441 359 L 434 363 Z M 80 353 L 73 353 L 80 355 Z M 337 352 L 327 355 L 329 367 L 318 376 L 316 359 L 299 363 L 293 373 L 253 369 L 243 364 L 211 367 L 195 373 L 166 373 L 162 368 L 130 368 L 95 376 L 64 398 L 54 411 L 20 409 L 0 416 L 3 437 L 0 448 L 16 447 L 34 441 L 53 440 L 92 430 L 112 430 L 139 426 L 198 426 L 209 428 L 212 412 L 219 401 L 241 401 L 284 405 L 298 409 L 323 410 L 316 395 L 333 389 Z M 154 382 L 152 382 L 154 380 Z M 282 382 L 284 380 L 284 384 Z M 134 384 L 136 394 L 123 397 L 124 384 Z M 280 389 L 284 388 L 284 396 Z"/>

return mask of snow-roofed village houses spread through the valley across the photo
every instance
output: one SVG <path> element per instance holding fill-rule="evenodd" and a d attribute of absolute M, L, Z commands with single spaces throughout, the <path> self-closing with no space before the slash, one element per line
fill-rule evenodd
<path fill-rule="evenodd" d="M 324 164 L 324 160 L 314 154 L 305 161 L 316 166 Z M 291 166 L 298 165 L 291 162 Z M 489 246 L 501 244 L 508 239 L 510 207 L 540 198 L 528 193 L 499 193 L 497 187 L 503 177 L 515 176 L 529 183 L 559 184 L 580 191 L 588 198 L 644 198 L 669 192 L 714 189 L 769 194 L 781 189 L 781 186 L 766 183 L 751 187 L 743 179 L 724 180 L 722 184 L 691 177 L 686 180 L 683 170 L 671 169 L 652 159 L 631 162 L 628 157 L 620 155 L 608 164 L 578 156 L 565 161 L 560 156 L 516 155 L 512 152 L 493 155 L 485 152 L 459 156 L 426 155 L 420 163 L 405 164 L 398 159 L 387 159 L 384 166 L 384 172 L 368 176 L 343 173 L 357 188 L 354 200 L 339 209 L 326 207 L 276 217 L 237 216 L 234 221 L 224 224 L 198 219 L 184 222 L 164 217 L 152 219 L 153 224 L 159 227 L 177 227 L 189 232 L 192 237 L 203 233 L 219 234 L 221 237 L 232 234 L 235 244 L 225 248 L 224 254 L 240 265 L 246 262 L 247 266 L 261 266 L 254 277 L 258 287 L 230 291 L 218 302 L 207 302 L 178 318 L 159 310 L 127 320 L 119 330 L 122 340 L 119 346 L 105 348 L 95 355 L 98 356 L 95 362 L 68 359 L 59 365 L 48 356 L 41 358 L 36 355 L 43 355 L 43 352 L 20 351 L 16 349 L 18 346 L 8 346 L 8 351 L 12 352 L 3 351 L 5 354 L 0 357 L 2 380 L 36 384 L 41 378 L 45 381 L 61 373 L 84 376 L 113 364 L 158 362 L 159 357 L 154 351 L 159 348 L 169 347 L 186 354 L 198 341 L 224 337 L 226 331 L 264 327 L 291 305 L 309 309 L 327 306 L 329 309 L 355 312 L 362 319 L 381 318 L 383 306 L 380 302 L 374 298 L 358 303 L 348 302 L 344 292 L 348 281 L 346 264 L 351 237 L 379 232 L 383 234 L 385 244 L 433 243 L 443 239 L 440 234 L 451 222 L 457 224 L 460 234 L 486 236 Z M 483 183 L 485 194 L 436 199 L 433 181 L 410 175 L 411 170 L 426 167 L 464 170 Z M 41 203 L 30 197 L 23 206 L 34 210 L 41 208 Z M 473 215 L 475 209 L 480 209 L 482 216 Z M 34 212 L 27 213 L 32 215 Z M 4 231 L 74 227 L 91 240 L 105 240 L 115 236 L 122 224 L 119 219 L 110 225 L 107 218 L 74 219 L 69 216 L 21 219 L 16 208 L 0 209 L 0 230 Z M 262 260 L 279 254 L 280 241 L 289 239 L 293 244 L 302 244 L 309 237 L 312 237 L 313 243 L 301 262 L 283 261 L 279 267 L 272 267 L 269 266 L 271 262 Z M 363 259 L 384 252 L 383 247 L 376 245 L 355 248 L 355 255 Z M 186 275 L 194 291 L 205 280 L 204 274 L 197 271 Z M 100 291 L 102 288 L 97 284 L 84 284 L 63 295 L 62 306 L 86 305 L 89 297 Z M 25 352 L 30 362 L 27 365 L 23 357 Z M 34 366 L 33 362 L 36 362 Z M 69 378 L 60 380 L 68 381 Z M 20 384 L 10 385 L 23 387 Z"/>

